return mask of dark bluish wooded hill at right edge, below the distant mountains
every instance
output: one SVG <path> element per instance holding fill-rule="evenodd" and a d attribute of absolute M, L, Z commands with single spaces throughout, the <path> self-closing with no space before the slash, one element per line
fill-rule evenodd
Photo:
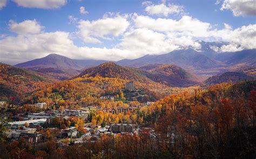
<path fill-rule="evenodd" d="M 214 75 L 213 77 L 205 80 L 201 85 L 202 86 L 211 86 L 215 84 L 220 84 L 222 82 L 241 82 L 241 81 L 252 81 L 256 78 L 251 77 L 245 73 L 240 72 L 225 72 L 219 75 Z"/>

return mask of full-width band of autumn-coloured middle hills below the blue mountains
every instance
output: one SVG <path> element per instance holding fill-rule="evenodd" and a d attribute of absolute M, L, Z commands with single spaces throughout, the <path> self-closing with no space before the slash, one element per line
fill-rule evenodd
<path fill-rule="evenodd" d="M 46 67 L 38 69 L 49 70 L 50 68 Z M 112 90 L 113 88 L 120 89 L 124 87 L 125 81 L 134 81 L 137 88 L 146 90 L 147 93 L 152 93 L 152 90 L 159 91 L 160 89 L 168 92 L 169 90 L 172 90 L 173 87 L 208 87 L 221 82 L 252 81 L 256 79 L 251 76 L 253 72 L 255 73 L 254 68 L 249 68 L 244 72 L 225 72 L 202 81 L 196 75 L 176 65 L 150 64 L 134 68 L 108 62 L 96 67 L 86 68 L 63 82 L 52 82 L 49 80 L 47 73 L 42 73 L 44 74 L 42 76 L 40 73 L 34 72 L 28 68 L 24 69 L 0 64 L 0 100 L 22 102 L 27 94 L 46 86 L 56 86 L 54 89 L 60 90 L 62 88 L 60 86 L 68 85 L 71 90 L 77 89 L 77 92 L 79 92 L 80 89 L 85 89 L 85 87 L 86 89 L 97 89 L 98 91 L 103 91 L 106 86 L 107 90 Z M 77 82 L 76 87 L 73 84 L 74 81 Z M 41 91 L 41 94 L 42 93 L 43 92 Z M 157 94 L 154 94 L 157 98 Z"/>

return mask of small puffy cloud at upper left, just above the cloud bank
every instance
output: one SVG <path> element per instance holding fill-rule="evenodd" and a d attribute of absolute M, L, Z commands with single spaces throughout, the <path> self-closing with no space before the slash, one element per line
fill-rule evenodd
<path fill-rule="evenodd" d="M 24 20 L 21 23 L 16 23 L 13 20 L 9 20 L 10 31 L 16 32 L 18 34 L 39 33 L 43 28 L 44 26 L 41 26 L 35 19 Z"/>

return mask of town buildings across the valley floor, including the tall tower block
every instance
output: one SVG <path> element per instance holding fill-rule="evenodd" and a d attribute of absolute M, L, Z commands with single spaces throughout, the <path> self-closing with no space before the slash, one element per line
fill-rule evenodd
<path fill-rule="evenodd" d="M 134 82 L 126 82 L 124 92 L 125 98 L 130 100 L 139 100 L 143 94 L 134 89 Z M 114 95 L 100 96 L 100 99 L 114 100 Z M 145 102 L 144 106 L 152 105 L 154 102 Z M 2 109 L 7 109 L 7 113 L 17 109 L 17 106 L 11 106 L 6 101 L 0 101 Z M 75 143 L 93 142 L 100 139 L 103 134 L 116 136 L 117 134 L 134 135 L 139 131 L 149 128 L 139 127 L 132 123 L 113 123 L 111 125 L 93 125 L 90 119 L 90 113 L 93 110 L 102 110 L 111 114 L 126 114 L 133 109 L 141 106 L 100 108 L 83 107 L 80 109 L 52 109 L 45 102 L 39 102 L 30 105 L 35 108 L 35 113 L 18 111 L 12 116 L 11 121 L 2 120 L 4 126 L 8 128 L 6 137 L 10 140 L 25 139 L 35 149 L 40 149 L 44 142 L 51 137 L 56 140 L 59 146 L 68 146 Z M 22 107 L 19 107 L 22 109 Z M 2 118 L 6 118 L 2 116 Z M 51 133 L 50 133 L 51 132 Z M 154 129 L 150 128 L 150 133 L 154 134 Z"/>

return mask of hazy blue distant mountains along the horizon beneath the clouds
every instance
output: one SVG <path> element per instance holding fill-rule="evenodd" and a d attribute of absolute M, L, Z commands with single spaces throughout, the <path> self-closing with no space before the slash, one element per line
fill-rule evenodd
<path fill-rule="evenodd" d="M 226 42 L 204 42 L 198 40 L 200 49 L 174 50 L 165 54 L 146 55 L 138 59 L 123 59 L 115 63 L 121 66 L 139 68 L 147 65 L 176 65 L 197 75 L 201 81 L 224 72 L 244 72 L 256 67 L 256 50 L 238 52 L 220 52 Z M 37 72 L 42 77 L 57 81 L 65 80 L 79 74 L 85 68 L 106 63 L 104 60 L 70 59 L 58 54 L 17 64 L 16 67 Z M 255 76 L 255 71 L 250 72 Z"/>

